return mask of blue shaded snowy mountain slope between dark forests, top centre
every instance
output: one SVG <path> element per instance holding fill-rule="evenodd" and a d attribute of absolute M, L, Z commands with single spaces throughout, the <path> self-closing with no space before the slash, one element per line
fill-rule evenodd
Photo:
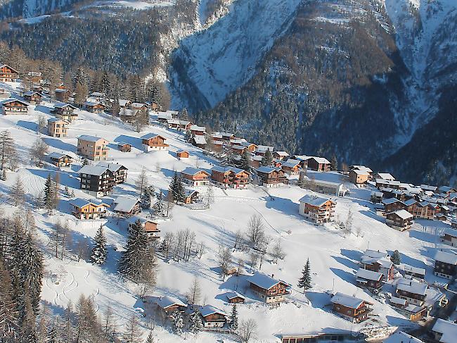
<path fill-rule="evenodd" d="M 255 66 L 281 35 L 299 0 L 234 1 L 231 10 L 207 30 L 181 41 L 170 75 L 175 105 L 186 106 L 189 85 L 200 101 L 214 106 L 243 85 Z M 185 69 L 184 75 L 177 70 Z M 184 82 L 184 85 L 181 84 Z"/>

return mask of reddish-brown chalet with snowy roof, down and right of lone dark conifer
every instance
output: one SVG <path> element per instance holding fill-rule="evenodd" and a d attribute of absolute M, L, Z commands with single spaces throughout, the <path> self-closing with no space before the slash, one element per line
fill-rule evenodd
<path fill-rule="evenodd" d="M 370 308 L 373 303 L 340 292 L 332 297 L 331 302 L 333 312 L 352 323 L 361 323 L 363 320 L 367 320 L 368 313 L 373 311 Z"/>

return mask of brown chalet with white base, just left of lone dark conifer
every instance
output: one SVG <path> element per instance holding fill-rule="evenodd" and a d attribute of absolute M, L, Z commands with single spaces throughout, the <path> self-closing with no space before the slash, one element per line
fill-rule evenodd
<path fill-rule="evenodd" d="M 273 276 L 256 273 L 247 279 L 251 292 L 267 304 L 285 301 L 290 285 Z"/>

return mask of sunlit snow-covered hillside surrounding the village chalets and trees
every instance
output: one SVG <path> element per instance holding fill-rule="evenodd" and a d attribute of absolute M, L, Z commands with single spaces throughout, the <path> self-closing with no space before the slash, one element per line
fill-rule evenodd
<path fill-rule="evenodd" d="M 31 206 L 33 198 L 44 188 L 44 181 L 51 173 L 60 173 L 60 182 L 63 186 L 74 190 L 77 197 L 89 199 L 87 194 L 79 191 L 77 179 L 78 163 L 71 168 L 56 170 L 45 163 L 44 168 L 37 168 L 30 163 L 29 149 L 37 139 L 37 120 L 39 115 L 50 117 L 52 104 L 43 102 L 38 106 L 30 106 L 27 116 L 0 116 L 0 130 L 9 130 L 15 138 L 22 164 L 17 172 L 8 173 L 6 182 L 0 181 L 0 190 L 8 193 L 9 187 L 19 175 L 27 189 L 27 206 Z M 129 142 L 133 149 L 130 153 L 118 151 L 110 144 L 110 160 L 122 163 L 129 168 L 127 182 L 115 188 L 115 194 L 134 194 L 135 179 L 143 166 L 148 171 L 149 182 L 155 189 L 165 190 L 168 187 L 174 170 L 183 170 L 186 166 L 210 168 L 217 161 L 202 154 L 198 148 L 184 142 L 184 136 L 162 127 L 150 125 L 143 132 L 134 132 L 131 127 L 110 116 L 78 111 L 79 118 L 70 125 L 67 138 L 58 139 L 41 134 L 51 151 L 76 152 L 78 135 L 96 135 L 108 139 L 110 142 Z M 167 138 L 169 151 L 143 153 L 139 137 L 148 132 L 154 132 Z M 191 153 L 188 161 L 179 161 L 175 152 L 187 149 Z M 306 151 L 304 151 L 305 153 Z M 158 170 L 160 168 L 160 170 Z M 337 181 L 347 180 L 337 173 L 314 173 L 317 180 Z M 343 179 L 342 179 L 343 177 Z M 295 185 L 288 185 L 278 189 L 269 189 L 269 197 L 262 187 L 250 186 L 245 190 L 228 189 L 225 192 L 214 188 L 214 204 L 204 211 L 196 211 L 183 206 L 175 206 L 172 218 L 159 224 L 160 235 L 165 232 L 190 229 L 195 232 L 197 242 L 205 244 L 206 252 L 202 258 L 193 258 L 188 263 L 166 263 L 160 260 L 160 273 L 157 277 L 157 287 L 150 295 L 172 295 L 185 301 L 185 294 L 191 286 L 195 276 L 202 286 L 202 301 L 231 312 L 231 306 L 226 304 L 224 293 L 237 290 L 245 294 L 247 301 L 238 306 L 240 319 L 254 318 L 259 325 L 259 342 L 278 342 L 281 334 L 315 332 L 323 328 L 341 328 L 357 331 L 366 327 L 403 326 L 411 325 L 404 317 L 394 311 L 387 304 L 382 304 L 371 294 L 354 285 L 357 263 L 362 251 L 367 249 L 385 249 L 401 252 L 402 261 L 412 266 L 427 269 L 427 278 L 432 280 L 432 256 L 437 244 L 436 232 L 447 224 L 436 221 L 418 220 L 412 230 L 397 232 L 383 223 L 383 219 L 376 216 L 373 204 L 369 201 L 368 189 L 351 187 L 351 195 L 337 199 L 336 216 L 341 220 L 347 216 L 349 208 L 354 213 L 354 233 L 343 237 L 342 232 L 331 225 L 318 227 L 307 223 L 298 215 L 298 199 L 308 192 Z M 205 188 L 198 189 L 205 192 Z M 17 210 L 8 204 L 8 196 L 4 197 L 1 206 L 7 213 Z M 44 280 L 42 299 L 49 304 L 55 313 L 62 313 L 68 301 L 73 304 L 80 294 L 91 295 L 96 302 L 98 313 L 103 313 L 106 306 L 111 306 L 118 316 L 118 323 L 122 325 L 131 313 L 137 313 L 143 318 L 145 306 L 138 297 L 136 288 L 129 282 L 122 281 L 117 275 L 117 259 L 127 237 L 127 223 L 124 220 L 109 218 L 108 220 L 76 220 L 70 215 L 69 199 L 63 197 L 59 211 L 48 216 L 40 211 L 34 211 L 37 220 L 38 237 L 46 251 L 46 277 Z M 146 213 L 143 213 L 145 215 Z M 233 234 L 237 230 L 245 230 L 247 222 L 253 214 L 262 216 L 266 234 L 271 241 L 281 239 L 286 256 L 283 261 L 273 264 L 266 261 L 262 272 L 274 274 L 275 277 L 292 285 L 292 294 L 285 304 L 270 308 L 257 301 L 247 290 L 246 275 L 228 277 L 221 280 L 218 272 L 217 251 L 219 246 L 233 247 Z M 72 261 L 64 258 L 63 261 L 53 257 L 50 246 L 51 227 L 58 220 L 67 220 L 72 230 L 73 244 L 84 242 L 94 237 L 97 228 L 105 223 L 105 232 L 108 237 L 108 263 L 105 266 L 92 266 L 87 261 Z M 357 232 L 359 235 L 356 235 Z M 236 251 L 234 260 L 242 258 L 246 263 L 247 253 Z M 297 288 L 307 258 L 311 263 L 314 287 L 307 292 L 306 297 Z M 247 275 L 250 268 L 246 265 Z M 237 288 L 238 285 L 238 288 Z M 374 317 L 361 324 L 352 324 L 330 312 L 330 296 L 325 292 L 344 292 L 373 302 Z M 147 313 L 146 313 L 147 314 Z M 146 319 L 143 319 L 146 332 Z M 157 325 L 154 335 L 159 342 L 216 342 L 223 338 L 224 342 L 232 342 L 228 336 L 217 336 L 202 332 L 198 337 L 192 334 L 178 337 L 169 328 Z"/>

